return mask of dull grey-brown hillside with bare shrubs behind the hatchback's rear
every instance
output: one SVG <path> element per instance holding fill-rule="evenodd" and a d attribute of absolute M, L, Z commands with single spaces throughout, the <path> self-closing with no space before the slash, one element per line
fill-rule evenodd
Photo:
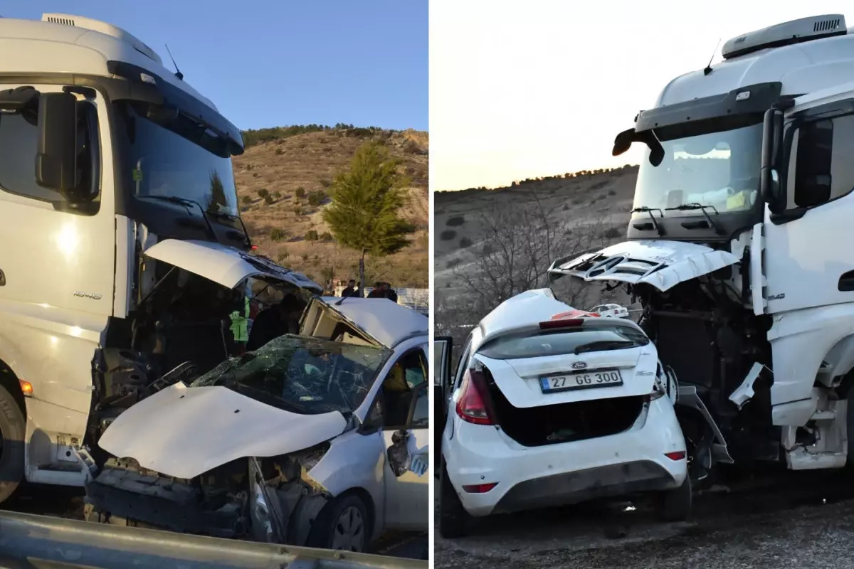
<path fill-rule="evenodd" d="M 436 192 L 436 334 L 453 336 L 459 355 L 471 326 L 500 302 L 502 289 L 508 292 L 506 282 L 516 283 L 512 293 L 524 290 L 526 280 L 544 286 L 545 272 L 555 257 L 622 240 L 637 171 L 637 166 L 624 166 L 526 180 L 509 188 Z M 520 218 L 513 218 L 520 211 L 533 215 L 520 224 Z M 496 218 L 501 220 L 497 224 Z M 515 229 L 496 229 L 502 228 L 504 219 L 516 224 Z M 489 234 L 490 229 L 494 233 Z M 544 236 L 558 245 L 548 247 Z M 511 257 L 515 260 L 508 263 Z M 512 278 L 506 277 L 511 265 Z M 554 283 L 553 290 L 578 308 L 629 303 L 622 289 L 605 291 L 596 283 L 563 279 Z"/>

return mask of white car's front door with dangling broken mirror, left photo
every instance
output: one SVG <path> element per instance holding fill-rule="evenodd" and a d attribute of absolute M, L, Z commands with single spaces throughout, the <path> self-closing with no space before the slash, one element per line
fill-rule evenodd
<path fill-rule="evenodd" d="M 406 420 L 402 425 L 386 421 L 383 426 L 386 458 L 383 485 L 388 529 L 427 531 L 430 523 L 430 390 L 426 380 L 425 347 L 416 349 L 423 380 L 412 386 Z M 408 355 L 412 356 L 412 351 Z M 406 357 L 407 354 L 399 361 Z"/>

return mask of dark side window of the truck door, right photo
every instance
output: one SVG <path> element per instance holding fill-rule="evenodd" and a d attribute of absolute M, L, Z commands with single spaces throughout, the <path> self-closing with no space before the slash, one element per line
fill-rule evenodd
<path fill-rule="evenodd" d="M 854 189 L 854 115 L 822 119 L 796 131 L 788 207 L 821 206 Z"/>

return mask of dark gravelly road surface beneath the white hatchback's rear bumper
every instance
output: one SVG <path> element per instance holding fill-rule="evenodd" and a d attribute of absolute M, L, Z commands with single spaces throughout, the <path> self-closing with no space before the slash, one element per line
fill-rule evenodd
<path fill-rule="evenodd" d="M 854 567 L 851 474 L 776 473 L 729 487 L 695 496 L 681 524 L 658 523 L 640 502 L 495 516 L 470 537 L 437 536 L 436 568 Z"/>

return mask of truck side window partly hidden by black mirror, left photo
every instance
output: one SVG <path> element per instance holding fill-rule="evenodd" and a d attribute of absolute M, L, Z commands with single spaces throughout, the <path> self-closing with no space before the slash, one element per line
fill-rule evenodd
<path fill-rule="evenodd" d="M 0 189 L 34 200 L 64 203 L 56 190 L 36 183 L 35 163 L 38 147 L 38 113 L 0 114 Z M 78 103 L 78 182 L 100 195 L 100 155 L 97 109 L 90 102 Z"/>

